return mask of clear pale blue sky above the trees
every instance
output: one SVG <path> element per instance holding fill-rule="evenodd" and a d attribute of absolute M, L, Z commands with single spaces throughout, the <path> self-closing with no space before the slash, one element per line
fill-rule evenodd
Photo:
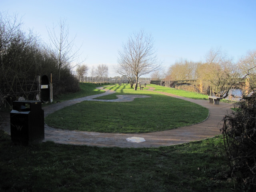
<path fill-rule="evenodd" d="M 0 0 L 0 10 L 45 41 L 46 26 L 66 18 L 84 64 L 107 64 L 112 77 L 118 49 L 140 30 L 153 36 L 166 70 L 180 58 L 204 61 L 210 48 L 234 61 L 256 49 L 256 0 Z"/>

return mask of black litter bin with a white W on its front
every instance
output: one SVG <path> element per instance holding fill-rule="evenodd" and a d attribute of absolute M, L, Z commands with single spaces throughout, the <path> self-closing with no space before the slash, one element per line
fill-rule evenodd
<path fill-rule="evenodd" d="M 41 101 L 14 101 L 10 112 L 11 138 L 19 144 L 44 140 L 44 110 Z"/>

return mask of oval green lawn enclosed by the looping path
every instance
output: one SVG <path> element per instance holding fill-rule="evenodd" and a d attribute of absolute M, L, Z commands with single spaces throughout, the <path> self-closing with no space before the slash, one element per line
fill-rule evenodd
<path fill-rule="evenodd" d="M 129 85 L 111 86 L 115 94 L 97 99 L 116 99 L 120 94 L 141 94 L 133 102 L 84 101 L 48 115 L 46 124 L 55 128 L 95 132 L 154 132 L 195 124 L 208 117 L 208 109 L 177 98 Z"/>

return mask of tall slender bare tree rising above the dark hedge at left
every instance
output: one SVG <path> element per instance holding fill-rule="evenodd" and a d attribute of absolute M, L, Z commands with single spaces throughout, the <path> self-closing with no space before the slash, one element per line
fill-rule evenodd
<path fill-rule="evenodd" d="M 61 68 L 68 67 L 74 68 L 79 65 L 79 50 L 74 44 L 76 37 L 70 39 L 69 37 L 69 27 L 66 20 L 60 20 L 58 26 L 52 27 L 52 29 L 47 28 L 48 36 L 50 39 L 50 50 L 52 56 L 58 62 L 59 80 Z M 70 66 L 72 62 L 76 62 L 74 66 Z"/>

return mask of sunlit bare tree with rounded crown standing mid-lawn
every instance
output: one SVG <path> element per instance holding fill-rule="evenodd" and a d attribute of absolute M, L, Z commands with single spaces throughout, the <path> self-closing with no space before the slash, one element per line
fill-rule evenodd
<path fill-rule="evenodd" d="M 118 51 L 118 67 L 116 72 L 128 79 L 135 76 L 134 90 L 138 87 L 138 78 L 159 70 L 161 63 L 157 61 L 154 41 L 150 34 L 140 31 L 129 36 L 128 42 Z"/>

